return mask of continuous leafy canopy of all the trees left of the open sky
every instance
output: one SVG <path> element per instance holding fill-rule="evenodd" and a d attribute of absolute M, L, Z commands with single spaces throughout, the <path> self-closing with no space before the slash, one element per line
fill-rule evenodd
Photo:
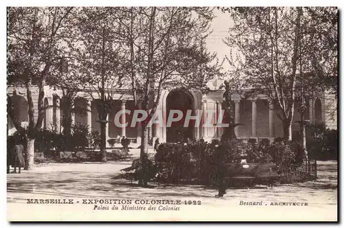
<path fill-rule="evenodd" d="M 115 92 L 127 89 L 136 106 L 140 100 L 150 111 L 150 119 L 162 89 L 206 92 L 208 80 L 221 75 L 216 54 L 206 49 L 212 8 L 9 8 L 8 15 L 9 82 L 20 79 L 30 82 L 28 88 L 32 82 L 40 87 L 36 126 L 28 100 L 30 129 L 41 128 L 45 84 L 63 92 L 65 135 L 71 132 L 74 98 L 87 88 L 90 97 L 101 101 L 97 111 L 102 151 Z M 19 124 L 15 126 L 19 130 Z M 142 139 L 144 151 L 147 135 Z"/>

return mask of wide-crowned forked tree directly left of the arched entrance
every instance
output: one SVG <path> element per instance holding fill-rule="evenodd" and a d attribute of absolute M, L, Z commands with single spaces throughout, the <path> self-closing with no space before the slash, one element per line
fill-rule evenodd
<path fill-rule="evenodd" d="M 141 157 L 147 152 L 149 120 L 162 90 L 206 91 L 206 82 L 220 74 L 215 54 L 205 45 L 213 17 L 211 8 L 121 8 L 117 14 L 133 100 L 136 106 L 142 102 L 148 113 L 142 122 Z"/>

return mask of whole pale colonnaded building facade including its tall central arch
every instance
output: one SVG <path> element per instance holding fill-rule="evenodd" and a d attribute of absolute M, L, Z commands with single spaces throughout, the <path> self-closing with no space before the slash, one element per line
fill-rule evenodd
<path fill-rule="evenodd" d="M 185 91 L 182 89 L 173 89 L 171 91 L 162 91 L 157 111 L 162 113 L 164 122 L 169 117 L 169 111 L 180 110 L 185 115 L 187 110 L 191 110 L 191 114 L 194 116 L 197 112 L 201 112 L 202 119 L 199 126 L 194 126 L 193 122 L 187 127 L 183 127 L 184 116 L 180 121 L 173 122 L 171 127 L 166 127 L 166 124 L 153 124 L 149 127 L 149 144 L 153 144 L 156 138 L 161 142 L 166 141 L 180 141 L 183 138 L 203 138 L 206 141 L 212 139 L 219 139 L 223 133 L 223 128 L 219 127 L 217 122 L 219 113 L 222 111 L 223 90 L 219 90 L 216 87 L 219 84 L 218 81 L 210 82 L 212 91 L 208 94 L 202 94 L 198 91 Z M 28 102 L 26 99 L 25 87 L 9 87 L 8 93 L 11 96 L 13 104 L 15 104 L 15 115 L 19 119 L 22 125 L 28 122 Z M 37 118 L 37 100 L 38 100 L 38 88 L 32 89 L 32 98 L 34 101 L 34 118 Z M 42 128 L 62 131 L 61 127 L 61 91 L 50 89 L 45 87 L 45 118 L 43 120 Z M 89 93 L 78 93 L 75 105 L 87 110 L 86 113 L 72 113 L 73 124 L 85 124 L 89 130 L 100 131 L 100 124 L 98 122 L 98 113 L 96 111 L 96 99 L 97 93 L 94 92 L 92 96 L 95 99 L 91 99 Z M 336 101 L 331 97 L 329 93 L 323 93 L 316 96 L 315 99 L 308 101 L 308 110 L 305 114 L 305 119 L 309 119 L 311 123 L 324 122 L 329 128 L 336 128 Z M 235 109 L 235 123 L 241 124 L 235 128 L 235 133 L 239 139 L 248 140 L 266 139 L 272 141 L 276 137 L 283 136 L 283 127 L 281 120 L 275 113 L 273 104 L 264 95 L 257 96 L 256 98 L 250 98 L 242 100 L 241 97 L 233 93 L 232 95 L 233 107 Z M 300 115 L 297 111 L 299 103 L 295 105 L 294 120 L 292 122 L 293 133 L 300 132 L 300 126 L 297 123 L 300 120 Z M 89 109 L 88 107 L 91 107 Z M 131 127 L 132 115 L 121 115 L 120 122 L 129 122 L 125 128 L 120 128 L 114 124 L 114 117 L 118 111 L 133 110 L 136 109 L 133 98 L 130 94 L 118 94 L 114 96 L 114 104 L 111 114 L 109 115 L 109 124 L 107 124 L 107 141 L 109 139 L 116 139 L 116 143 L 120 143 L 120 138 L 125 136 L 130 139 L 131 146 L 140 146 L 141 142 L 141 129 L 140 124 Z M 208 112 L 213 112 L 213 115 L 209 121 L 211 125 L 204 126 Z M 8 117 L 8 134 L 12 135 L 16 129 L 12 124 L 12 119 Z M 108 145 L 109 146 L 109 145 Z"/>

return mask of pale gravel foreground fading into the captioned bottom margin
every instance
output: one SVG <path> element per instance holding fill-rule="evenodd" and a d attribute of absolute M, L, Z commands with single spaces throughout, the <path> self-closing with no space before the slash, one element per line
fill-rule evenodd
<path fill-rule="evenodd" d="M 228 189 L 224 198 L 214 198 L 217 190 L 201 185 L 156 185 L 143 188 L 125 179 L 116 179 L 120 169 L 131 165 L 131 161 L 110 161 L 109 163 L 41 163 L 32 171 L 21 174 L 7 174 L 8 188 L 8 219 L 32 219 L 32 215 L 14 216 L 11 212 L 20 207 L 43 208 L 43 205 L 28 204 L 28 198 L 85 198 L 101 199 L 155 199 L 200 201 L 201 206 L 183 205 L 181 211 L 173 219 L 177 220 L 336 220 L 337 219 L 337 163 L 336 161 L 318 162 L 318 179 L 305 183 L 279 185 L 270 189 L 257 186 L 250 189 Z M 262 202 L 265 206 L 241 206 L 240 202 Z M 274 203 L 307 203 L 302 206 L 272 206 Z M 35 207 L 33 207 L 35 206 Z M 38 207 L 39 206 L 39 207 Z M 45 206 L 45 205 L 44 205 Z M 51 205 L 48 205 L 51 206 Z M 78 207 L 78 212 L 84 207 Z M 65 207 L 67 208 L 67 207 Z M 75 213 L 76 207 L 70 207 Z M 87 207 L 88 212 L 93 205 Z M 192 210 L 190 210 L 192 208 Z M 234 209 L 234 210 L 233 210 Z M 228 214 L 224 214 L 224 210 Z M 252 212 L 250 212 L 252 210 Z M 242 212 L 241 212 L 242 211 Z M 87 211 L 86 211 L 87 212 Z M 86 213 L 85 212 L 85 213 Z M 94 210 L 92 211 L 94 212 Z M 211 213 L 209 213 L 211 212 Z M 67 213 L 67 211 L 66 211 Z M 109 212 L 107 212 L 109 213 Z M 103 215 L 105 216 L 105 214 Z M 131 212 L 134 213 L 134 212 Z M 135 212 L 134 214 L 136 214 Z M 171 212 L 170 212 L 171 213 Z M 177 212 L 175 212 L 177 213 Z M 179 213 L 179 212 L 178 212 Z M 206 213 L 207 216 L 202 216 Z M 249 214 L 248 214 L 249 213 Z M 164 214 L 164 212 L 161 212 Z M 124 214 L 123 214 L 124 215 Z M 122 217 L 123 220 L 151 220 L 147 216 Z M 153 214 L 153 216 L 157 213 Z M 245 216 L 246 215 L 246 216 Z M 58 214 L 46 220 L 121 220 L 113 217 L 65 217 Z M 76 216 L 76 215 L 75 215 Z M 93 213 L 94 216 L 94 213 Z M 74 218 L 74 219 L 72 219 Z M 124 219 L 125 218 L 125 219 Z M 159 217 L 160 218 L 160 217 Z M 169 217 L 171 218 L 171 217 Z M 41 216 L 37 218 L 43 219 Z M 158 218 L 153 218 L 157 220 Z M 44 219 L 43 219 L 44 220 Z"/>

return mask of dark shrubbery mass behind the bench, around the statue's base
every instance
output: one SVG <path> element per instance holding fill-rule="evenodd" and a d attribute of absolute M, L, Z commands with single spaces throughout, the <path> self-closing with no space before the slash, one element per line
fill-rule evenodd
<path fill-rule="evenodd" d="M 277 163 L 283 182 L 290 181 L 290 175 L 297 171 L 302 162 L 299 144 L 291 141 L 277 140 L 269 145 L 240 140 L 221 144 L 214 140 L 209 144 L 201 139 L 190 141 L 189 144 L 160 144 L 155 163 L 166 169 L 168 175 L 165 175 L 164 181 L 167 183 L 187 181 L 211 185 L 215 183 L 216 148 L 225 148 L 224 163 L 239 163 L 243 157 L 247 158 L 248 163 Z M 166 166 L 160 166 L 161 163 L 166 163 Z"/>

